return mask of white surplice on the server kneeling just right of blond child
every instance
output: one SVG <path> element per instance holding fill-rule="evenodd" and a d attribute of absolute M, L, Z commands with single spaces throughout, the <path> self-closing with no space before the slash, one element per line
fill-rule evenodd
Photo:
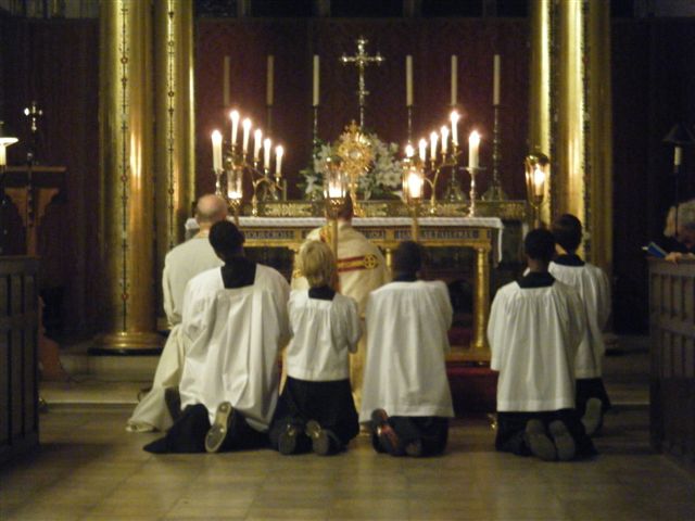
<path fill-rule="evenodd" d="M 377 408 L 390 416 L 454 416 L 445 361 L 452 316 L 441 281 L 391 282 L 369 295 L 361 422 Z"/>

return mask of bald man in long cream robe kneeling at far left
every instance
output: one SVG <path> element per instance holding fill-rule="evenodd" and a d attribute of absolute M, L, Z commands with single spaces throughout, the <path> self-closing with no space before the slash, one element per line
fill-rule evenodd
<path fill-rule="evenodd" d="M 162 289 L 170 332 L 154 373 L 152 390 L 128 419 L 126 430 L 130 432 L 165 431 L 174 422 L 165 397 L 167 394 L 170 397 L 177 396 L 176 390 L 186 356 L 186 344 L 180 334 L 184 292 L 188 281 L 198 274 L 222 266 L 223 262 L 215 255 L 207 234 L 215 223 L 226 218 L 227 203 L 224 199 L 212 193 L 201 196 L 195 206 L 198 233 L 166 254 Z"/>

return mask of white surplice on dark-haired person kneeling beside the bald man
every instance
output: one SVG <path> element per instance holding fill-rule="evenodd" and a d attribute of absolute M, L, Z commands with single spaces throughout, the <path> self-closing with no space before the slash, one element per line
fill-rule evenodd
<path fill-rule="evenodd" d="M 225 289 L 222 270 L 191 279 L 182 334 L 189 342 L 179 392 L 181 408 L 203 404 L 214 421 L 222 402 L 267 430 L 278 396 L 277 357 L 289 339 L 290 287 L 275 269 L 256 265 L 253 285 Z"/>

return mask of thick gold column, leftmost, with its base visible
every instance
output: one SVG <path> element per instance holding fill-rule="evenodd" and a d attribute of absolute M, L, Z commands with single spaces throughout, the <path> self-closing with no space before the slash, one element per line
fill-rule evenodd
<path fill-rule="evenodd" d="M 154 300 L 152 5 L 100 5 L 100 251 L 104 350 L 157 347 Z"/>

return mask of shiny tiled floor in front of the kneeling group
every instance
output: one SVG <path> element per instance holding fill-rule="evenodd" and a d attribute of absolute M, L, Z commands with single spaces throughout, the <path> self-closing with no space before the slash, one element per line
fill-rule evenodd
<path fill-rule="evenodd" d="M 41 449 L 0 470 L 0 520 L 693 520 L 695 479 L 648 447 L 645 361 L 607 360 L 617 410 L 601 455 L 572 463 L 494 453 L 485 418 L 456 420 L 430 459 L 377 455 L 367 437 L 330 458 L 153 456 L 155 434 L 124 430 L 130 406 L 49 407 Z"/>

